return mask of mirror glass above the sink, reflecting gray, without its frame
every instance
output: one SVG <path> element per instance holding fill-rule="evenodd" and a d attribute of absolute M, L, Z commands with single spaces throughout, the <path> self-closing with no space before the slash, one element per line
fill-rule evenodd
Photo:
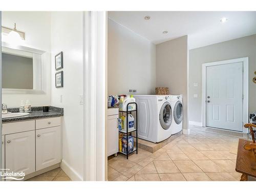
<path fill-rule="evenodd" d="M 33 58 L 2 53 L 3 88 L 33 89 Z"/>

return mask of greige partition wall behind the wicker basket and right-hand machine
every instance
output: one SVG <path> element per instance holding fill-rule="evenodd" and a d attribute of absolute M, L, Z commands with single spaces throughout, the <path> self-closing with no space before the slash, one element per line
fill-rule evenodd
<path fill-rule="evenodd" d="M 156 46 L 157 87 L 183 95 L 183 129 L 187 129 L 187 35 Z"/>

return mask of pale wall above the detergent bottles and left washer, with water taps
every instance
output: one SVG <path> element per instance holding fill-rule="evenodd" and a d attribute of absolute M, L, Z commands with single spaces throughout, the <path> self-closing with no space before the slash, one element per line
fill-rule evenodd
<path fill-rule="evenodd" d="M 108 19 L 108 95 L 154 94 L 156 46 Z"/>

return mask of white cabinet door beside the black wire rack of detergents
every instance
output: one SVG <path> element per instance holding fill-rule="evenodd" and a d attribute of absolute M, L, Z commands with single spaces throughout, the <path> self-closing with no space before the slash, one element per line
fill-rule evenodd
<path fill-rule="evenodd" d="M 118 152 L 118 115 L 108 116 L 108 156 Z"/>

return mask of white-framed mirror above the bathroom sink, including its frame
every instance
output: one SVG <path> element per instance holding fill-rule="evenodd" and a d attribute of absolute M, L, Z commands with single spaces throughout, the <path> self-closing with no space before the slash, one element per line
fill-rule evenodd
<path fill-rule="evenodd" d="M 46 52 L 2 42 L 3 94 L 44 94 Z"/>

